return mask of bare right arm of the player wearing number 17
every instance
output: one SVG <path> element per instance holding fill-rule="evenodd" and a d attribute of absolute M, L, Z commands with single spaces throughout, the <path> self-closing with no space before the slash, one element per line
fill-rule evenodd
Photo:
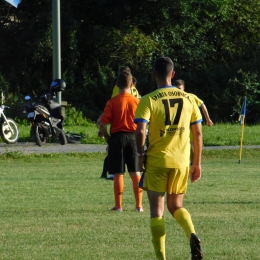
<path fill-rule="evenodd" d="M 202 130 L 201 123 L 191 125 L 193 135 L 194 155 L 190 169 L 191 182 L 195 182 L 201 177 L 201 154 L 202 154 Z"/>

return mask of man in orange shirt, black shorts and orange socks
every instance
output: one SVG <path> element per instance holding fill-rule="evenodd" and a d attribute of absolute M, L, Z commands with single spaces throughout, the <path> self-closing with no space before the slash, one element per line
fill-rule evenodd
<path fill-rule="evenodd" d="M 127 71 L 119 73 L 117 86 L 120 93 L 108 100 L 102 117 L 100 129 L 108 148 L 109 173 L 114 174 L 115 206 L 111 210 L 122 212 L 125 165 L 132 180 L 135 195 L 135 210 L 143 212 L 142 189 L 138 187 L 140 172 L 136 155 L 134 115 L 139 99 L 131 95 L 132 75 Z M 110 124 L 110 135 L 107 125 Z"/>

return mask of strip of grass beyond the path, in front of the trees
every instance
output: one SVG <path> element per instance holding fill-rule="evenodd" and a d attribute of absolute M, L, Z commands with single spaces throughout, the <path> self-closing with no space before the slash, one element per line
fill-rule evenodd
<path fill-rule="evenodd" d="M 203 125 L 203 141 L 205 146 L 239 145 L 241 136 L 240 124 L 215 124 L 212 127 Z M 19 125 L 20 142 L 31 142 L 30 125 Z M 65 132 L 74 132 L 85 137 L 84 144 L 106 144 L 104 139 L 97 137 L 97 127 L 93 123 L 88 126 L 64 126 Z M 260 125 L 245 126 L 243 145 L 260 145 Z"/>

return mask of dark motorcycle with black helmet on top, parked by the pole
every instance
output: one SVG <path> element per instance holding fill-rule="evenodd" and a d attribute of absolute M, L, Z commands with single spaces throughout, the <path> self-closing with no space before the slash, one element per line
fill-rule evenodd
<path fill-rule="evenodd" d="M 26 101 L 32 101 L 26 108 L 27 120 L 31 122 L 31 138 L 36 145 L 42 146 L 48 138 L 58 140 L 61 145 L 67 143 L 63 130 L 64 118 L 60 112 L 61 104 L 55 100 L 55 94 L 66 87 L 64 80 L 52 82 L 50 91 L 40 94 L 35 99 L 25 96 Z"/>

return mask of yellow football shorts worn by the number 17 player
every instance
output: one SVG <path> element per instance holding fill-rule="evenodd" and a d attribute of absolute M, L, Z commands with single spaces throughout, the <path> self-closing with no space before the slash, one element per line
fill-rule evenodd
<path fill-rule="evenodd" d="M 146 165 L 139 187 L 143 190 L 167 192 L 168 194 L 186 193 L 189 166 L 183 168 L 158 168 Z"/>

